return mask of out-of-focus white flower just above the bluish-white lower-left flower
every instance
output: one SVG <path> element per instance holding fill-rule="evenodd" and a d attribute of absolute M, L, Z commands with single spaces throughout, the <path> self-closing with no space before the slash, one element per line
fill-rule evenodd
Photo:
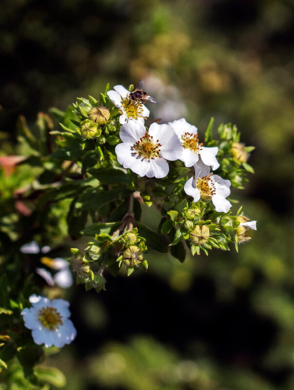
<path fill-rule="evenodd" d="M 45 279 L 49 286 L 57 284 L 61 288 L 69 288 L 73 284 L 73 276 L 69 269 L 68 261 L 62 258 L 50 259 L 48 257 L 43 257 L 41 262 L 58 270 L 58 272 L 52 276 L 45 268 L 36 268 L 37 274 Z"/>

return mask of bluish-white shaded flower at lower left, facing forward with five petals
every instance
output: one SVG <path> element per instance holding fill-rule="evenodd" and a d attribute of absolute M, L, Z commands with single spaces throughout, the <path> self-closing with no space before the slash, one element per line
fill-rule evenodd
<path fill-rule="evenodd" d="M 36 344 L 45 344 L 45 347 L 54 345 L 57 348 L 70 344 L 76 337 L 77 331 L 68 318 L 69 302 L 63 299 L 53 299 L 33 294 L 29 297 L 31 308 L 21 311 L 24 326 L 32 330 L 32 337 Z"/>

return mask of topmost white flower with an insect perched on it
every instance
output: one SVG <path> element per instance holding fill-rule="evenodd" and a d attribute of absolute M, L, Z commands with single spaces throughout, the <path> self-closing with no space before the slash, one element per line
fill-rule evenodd
<path fill-rule="evenodd" d="M 149 116 L 150 111 L 140 101 L 130 100 L 130 92 L 122 85 L 116 85 L 114 91 L 108 91 L 107 95 L 115 106 L 120 108 L 119 123 L 122 125 L 129 120 L 137 120 L 144 125 L 144 118 Z"/>

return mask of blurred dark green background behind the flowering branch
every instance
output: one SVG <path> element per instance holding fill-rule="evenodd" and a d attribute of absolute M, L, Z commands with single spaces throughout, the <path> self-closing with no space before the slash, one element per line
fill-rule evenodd
<path fill-rule="evenodd" d="M 152 253 L 148 273 L 67 292 L 78 337 L 46 362 L 66 389 L 293 390 L 294 1 L 4 0 L 0 26 L 1 155 L 18 115 L 139 79 L 152 120 L 203 134 L 214 116 L 256 147 L 235 197 L 258 230 L 239 254 Z"/>

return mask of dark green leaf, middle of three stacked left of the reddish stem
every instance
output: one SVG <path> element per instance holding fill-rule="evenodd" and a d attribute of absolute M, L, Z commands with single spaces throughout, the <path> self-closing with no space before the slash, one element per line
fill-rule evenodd
<path fill-rule="evenodd" d="M 97 190 L 96 188 L 87 189 L 80 197 L 79 202 L 82 203 L 82 208 L 85 210 L 98 210 L 104 204 L 110 203 L 121 196 L 120 190 Z"/>

